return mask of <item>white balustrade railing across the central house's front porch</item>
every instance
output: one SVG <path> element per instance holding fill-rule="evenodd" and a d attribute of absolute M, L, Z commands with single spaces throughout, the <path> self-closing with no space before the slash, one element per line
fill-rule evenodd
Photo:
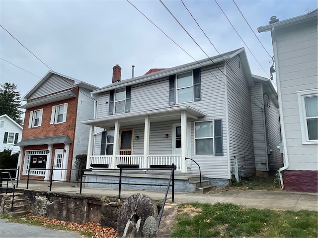
<path fill-rule="evenodd" d="M 140 169 L 149 169 L 150 165 L 172 165 L 174 164 L 176 170 L 181 170 L 181 155 L 148 155 L 148 166 L 144 168 L 144 156 L 143 155 L 116 155 L 116 165 L 139 165 Z M 92 155 L 90 156 L 91 164 L 109 165 L 112 168 L 112 156 L 111 155 Z"/>

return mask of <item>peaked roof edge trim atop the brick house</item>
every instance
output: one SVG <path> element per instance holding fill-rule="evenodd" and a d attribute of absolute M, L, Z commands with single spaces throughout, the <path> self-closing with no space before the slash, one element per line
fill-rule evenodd
<path fill-rule="evenodd" d="M 72 77 L 69 77 L 69 76 L 66 76 L 66 75 L 63 75 L 61 73 L 57 73 L 57 72 L 54 72 L 54 71 L 48 71 L 41 79 L 40 81 L 38 81 L 31 89 L 29 92 L 27 92 L 27 94 L 23 97 L 23 101 L 27 101 L 27 99 L 49 78 L 51 77 L 51 75 L 58 75 L 60 77 L 64 77 L 64 78 L 68 78 L 68 79 L 71 79 L 74 81 L 74 86 L 79 86 L 81 88 L 86 88 L 88 90 L 95 90 L 97 89 L 98 87 L 94 86 L 94 85 L 91 85 L 89 83 L 85 83 L 83 81 L 80 81 L 78 79 L 75 79 L 75 78 L 72 78 Z"/>

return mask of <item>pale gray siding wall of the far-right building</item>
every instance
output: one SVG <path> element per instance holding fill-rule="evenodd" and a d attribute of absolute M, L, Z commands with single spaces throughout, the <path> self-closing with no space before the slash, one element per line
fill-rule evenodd
<path fill-rule="evenodd" d="M 306 27 L 305 27 L 306 24 Z M 297 91 L 318 88 L 317 22 L 276 31 L 288 170 L 318 170 L 317 144 L 303 144 Z"/>

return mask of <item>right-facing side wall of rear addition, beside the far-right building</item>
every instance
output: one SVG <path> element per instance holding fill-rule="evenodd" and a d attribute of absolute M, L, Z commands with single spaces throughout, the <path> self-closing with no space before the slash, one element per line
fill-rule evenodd
<path fill-rule="evenodd" d="M 265 100 L 266 98 L 264 98 Z M 280 150 L 277 148 L 281 141 L 280 137 L 280 125 L 279 125 L 279 112 L 276 105 L 268 98 L 270 104 L 265 100 L 265 112 L 266 112 L 266 129 L 267 129 L 267 146 L 270 149 L 269 155 L 269 170 L 278 170 L 283 167 L 283 160 Z"/>

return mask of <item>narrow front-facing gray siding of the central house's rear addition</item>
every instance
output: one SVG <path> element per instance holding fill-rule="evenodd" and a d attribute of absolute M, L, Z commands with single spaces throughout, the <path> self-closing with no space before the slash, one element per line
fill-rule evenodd
<path fill-rule="evenodd" d="M 253 144 L 256 171 L 267 171 L 266 131 L 264 121 L 264 97 L 262 83 L 251 87 L 251 109 L 253 120 Z M 279 121 L 279 120 L 278 120 Z"/>

